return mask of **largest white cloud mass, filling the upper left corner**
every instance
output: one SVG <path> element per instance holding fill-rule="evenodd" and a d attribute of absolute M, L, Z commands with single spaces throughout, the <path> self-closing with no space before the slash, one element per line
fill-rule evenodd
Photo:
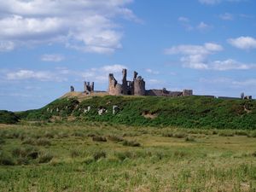
<path fill-rule="evenodd" d="M 140 21 L 130 9 L 125 8 L 131 2 L 4 1 L 0 4 L 0 39 L 16 47 L 61 43 L 85 52 L 113 53 L 122 47 L 122 32 L 113 20 L 123 17 Z"/>

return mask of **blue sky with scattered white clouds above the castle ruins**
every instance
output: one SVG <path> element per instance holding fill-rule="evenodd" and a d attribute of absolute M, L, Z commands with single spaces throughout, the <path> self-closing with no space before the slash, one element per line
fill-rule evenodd
<path fill-rule="evenodd" d="M 256 98 L 255 0 L 0 0 L 0 109 L 137 71 L 146 89 Z"/>

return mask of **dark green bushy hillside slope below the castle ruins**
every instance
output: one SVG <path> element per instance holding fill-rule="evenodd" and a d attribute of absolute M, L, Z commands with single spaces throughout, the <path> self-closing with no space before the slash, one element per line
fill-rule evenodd
<path fill-rule="evenodd" d="M 113 106 L 119 113 L 113 114 Z M 88 110 L 88 107 L 90 110 Z M 98 110 L 106 110 L 102 115 Z M 203 96 L 65 96 L 38 110 L 19 113 L 20 119 L 79 119 L 124 125 L 185 128 L 256 129 L 256 101 Z"/>

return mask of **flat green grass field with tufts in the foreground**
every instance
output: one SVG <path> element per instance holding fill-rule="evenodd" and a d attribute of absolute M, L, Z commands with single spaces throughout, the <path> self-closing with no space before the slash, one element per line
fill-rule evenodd
<path fill-rule="evenodd" d="M 0 125 L 0 191 L 256 191 L 256 131 Z"/>

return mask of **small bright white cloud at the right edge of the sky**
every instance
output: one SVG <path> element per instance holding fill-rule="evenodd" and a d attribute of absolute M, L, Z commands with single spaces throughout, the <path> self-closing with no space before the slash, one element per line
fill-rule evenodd
<path fill-rule="evenodd" d="M 228 43 L 238 49 L 255 49 L 256 39 L 251 37 L 230 38 Z"/>

